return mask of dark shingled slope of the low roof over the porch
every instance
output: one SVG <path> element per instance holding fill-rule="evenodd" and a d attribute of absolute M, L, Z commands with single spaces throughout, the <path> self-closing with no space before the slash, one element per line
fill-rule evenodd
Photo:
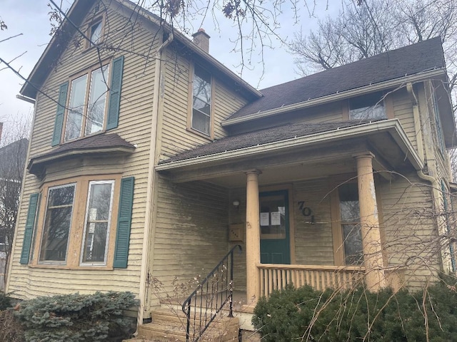
<path fill-rule="evenodd" d="M 263 130 L 256 130 L 248 133 L 241 133 L 238 135 L 231 135 L 221 140 L 210 142 L 206 145 L 201 145 L 175 155 L 167 160 L 159 162 L 159 164 L 166 164 L 168 162 L 176 162 L 179 160 L 191 159 L 194 157 L 204 157 L 206 155 L 214 155 L 221 152 L 229 152 L 239 150 L 241 148 L 253 147 L 258 145 L 265 145 L 269 142 L 278 142 L 281 140 L 288 140 L 293 138 L 304 137 L 316 133 L 323 133 L 330 130 L 338 130 L 339 128 L 347 128 L 356 125 L 368 123 L 366 120 L 349 120 L 338 123 L 287 123 L 272 128 Z"/>

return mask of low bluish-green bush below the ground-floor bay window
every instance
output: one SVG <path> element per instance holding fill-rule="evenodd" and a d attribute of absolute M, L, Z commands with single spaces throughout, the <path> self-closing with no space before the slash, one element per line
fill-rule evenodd
<path fill-rule="evenodd" d="M 38 297 L 21 302 L 16 318 L 26 341 L 121 341 L 131 328 L 122 311 L 136 305 L 130 292 Z"/>

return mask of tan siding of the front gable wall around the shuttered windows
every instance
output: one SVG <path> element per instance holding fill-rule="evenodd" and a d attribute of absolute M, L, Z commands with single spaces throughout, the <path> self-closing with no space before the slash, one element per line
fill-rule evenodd
<path fill-rule="evenodd" d="M 109 1 L 106 2 L 107 4 Z M 117 5 L 113 5 L 118 9 Z M 38 192 L 41 182 L 28 175 L 25 180 L 24 194 L 19 212 L 17 237 L 12 255 L 12 270 L 9 291 L 19 297 L 32 297 L 41 294 L 64 294 L 74 291 L 132 291 L 139 292 L 139 274 L 143 249 L 144 215 L 146 211 L 146 191 L 149 167 L 149 145 L 151 136 L 152 94 L 154 93 L 155 53 L 159 45 L 155 32 L 146 29 L 149 24 L 138 21 L 129 14 L 121 16 L 109 8 L 107 15 L 109 30 L 105 39 L 107 44 L 126 51 L 101 50 L 101 58 L 111 61 L 114 56 L 124 56 L 124 74 L 121 90 L 119 127 L 109 133 L 118 133 L 121 138 L 136 145 L 134 153 L 125 158 L 99 158 L 98 162 L 86 159 L 84 164 L 76 160 L 62 162 L 54 169 L 50 167 L 44 182 L 72 177 L 75 173 L 90 175 L 121 172 L 123 177 L 135 177 L 134 207 L 132 212 L 129 266 L 127 269 L 112 271 L 63 270 L 31 268 L 19 264 L 24 225 L 29 204 L 29 196 Z M 132 22 L 134 21 L 134 22 Z M 131 29 L 133 27 L 133 31 Z M 84 26 L 86 27 L 86 26 Z M 88 66 L 99 63 L 96 50 L 84 51 L 84 44 L 74 47 L 81 41 L 76 33 L 74 40 L 59 59 L 46 79 L 42 90 L 57 100 L 59 85 L 69 80 L 71 75 L 84 71 Z M 129 52 L 131 51 L 131 52 Z M 149 54 L 148 58 L 138 53 Z M 56 103 L 45 95 L 39 94 L 36 103 L 35 125 L 31 134 L 31 157 L 53 149 L 51 137 L 54 130 Z M 46 205 L 41 203 L 41 205 Z M 63 280 L 64 279 L 64 280 Z"/>

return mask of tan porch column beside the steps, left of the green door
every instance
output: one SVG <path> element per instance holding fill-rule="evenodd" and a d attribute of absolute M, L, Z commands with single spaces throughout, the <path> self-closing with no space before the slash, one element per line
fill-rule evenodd
<path fill-rule="evenodd" d="M 260 263 L 260 212 L 258 203 L 259 170 L 246 172 L 246 297 L 255 306 L 260 296 L 260 279 L 256 264 Z"/>

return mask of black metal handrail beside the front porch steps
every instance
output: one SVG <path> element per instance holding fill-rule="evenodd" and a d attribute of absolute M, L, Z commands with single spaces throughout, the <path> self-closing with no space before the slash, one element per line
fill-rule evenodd
<path fill-rule="evenodd" d="M 227 302 L 229 302 L 229 317 L 233 317 L 233 252 L 235 249 L 240 253 L 243 250 L 239 244 L 233 247 L 184 301 L 182 309 L 187 318 L 186 341 L 199 341 Z"/>

